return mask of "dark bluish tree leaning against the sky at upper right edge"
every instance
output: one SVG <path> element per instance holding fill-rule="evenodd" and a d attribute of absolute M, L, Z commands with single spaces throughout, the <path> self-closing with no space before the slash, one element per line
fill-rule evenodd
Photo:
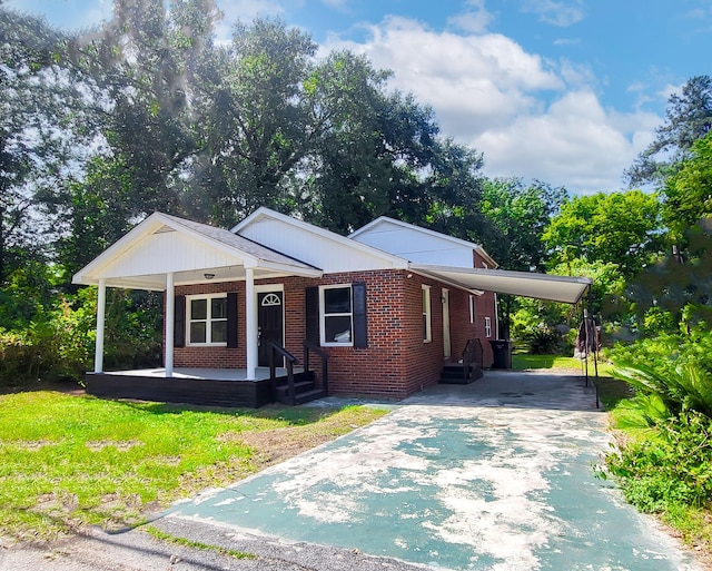
<path fill-rule="evenodd" d="M 661 185 L 690 157 L 698 139 L 712 130 L 712 78 L 696 76 L 688 80 L 681 93 L 668 100 L 665 121 L 655 129 L 655 140 L 625 171 L 630 186 Z"/>

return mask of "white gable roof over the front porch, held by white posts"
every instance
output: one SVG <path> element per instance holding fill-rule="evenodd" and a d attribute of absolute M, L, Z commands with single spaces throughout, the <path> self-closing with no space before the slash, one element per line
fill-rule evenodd
<path fill-rule="evenodd" d="M 180 284 L 201 280 L 205 273 L 235 279 L 247 267 L 264 277 L 322 275 L 313 265 L 229 230 L 154 213 L 80 269 L 72 283 L 93 285 L 103 278 L 107 285 L 161 291 L 167 273 L 175 273 Z"/>

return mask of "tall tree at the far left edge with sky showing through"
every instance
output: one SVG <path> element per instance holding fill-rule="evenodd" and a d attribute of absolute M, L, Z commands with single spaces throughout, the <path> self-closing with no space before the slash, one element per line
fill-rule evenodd
<path fill-rule="evenodd" d="M 59 65 L 67 39 L 43 20 L 0 3 L 0 38 L 2 284 L 52 229 L 42 204 L 55 201 L 63 175 L 77 93 L 70 71 Z"/>

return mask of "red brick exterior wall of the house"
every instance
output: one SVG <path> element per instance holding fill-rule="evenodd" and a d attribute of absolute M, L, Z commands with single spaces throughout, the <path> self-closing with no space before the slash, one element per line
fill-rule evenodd
<path fill-rule="evenodd" d="M 411 276 L 411 277 L 408 277 Z M 485 351 L 485 313 L 469 323 L 467 292 L 403 270 L 354 272 L 330 274 L 319 279 L 287 277 L 256 280 L 256 285 L 284 285 L 285 346 L 303 358 L 305 337 L 305 288 L 318 285 L 366 283 L 366 314 L 368 346 L 325 347 L 330 355 L 329 392 L 342 395 L 377 395 L 403 398 L 421 388 L 436 384 L 443 367 L 443 304 L 442 288 L 449 289 L 451 338 L 453 360 L 459 358 L 467 338 L 479 335 Z M 431 285 L 432 342 L 423 342 L 422 285 Z M 244 367 L 245 352 L 245 283 L 210 283 L 176 287 L 177 295 L 237 292 L 238 347 L 176 347 L 177 367 L 230 368 Z M 492 294 L 488 294 L 493 298 Z M 486 304 L 476 297 L 476 312 L 485 312 Z M 491 303 L 491 302 L 490 302 Z M 491 309 L 490 309 L 491 311 Z M 494 329 L 494 314 L 493 329 Z M 493 333 L 494 335 L 494 333 Z M 313 355 L 312 368 L 319 371 Z M 492 362 L 491 353 L 488 365 Z"/>

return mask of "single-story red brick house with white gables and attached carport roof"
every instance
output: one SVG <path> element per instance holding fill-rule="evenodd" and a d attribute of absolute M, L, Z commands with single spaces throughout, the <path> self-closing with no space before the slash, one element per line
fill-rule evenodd
<path fill-rule="evenodd" d="M 345 237 L 268 208 L 231 230 L 155 213 L 73 283 L 98 286 L 90 393 L 233 406 L 471 382 L 493 361 L 496 292 L 575 303 L 591 284 L 387 217 Z M 164 367 L 103 371 L 107 287 L 164 292 Z"/>

